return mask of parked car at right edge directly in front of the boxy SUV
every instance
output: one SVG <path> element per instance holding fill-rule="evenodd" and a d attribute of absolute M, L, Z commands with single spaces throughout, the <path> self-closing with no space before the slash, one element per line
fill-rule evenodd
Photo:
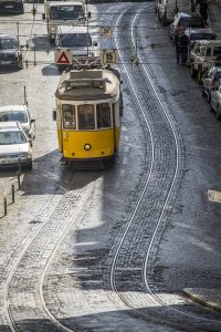
<path fill-rule="evenodd" d="M 206 74 L 202 83 L 202 96 L 208 97 L 208 102 L 211 98 L 211 91 L 221 80 L 221 66 L 212 66 Z"/>

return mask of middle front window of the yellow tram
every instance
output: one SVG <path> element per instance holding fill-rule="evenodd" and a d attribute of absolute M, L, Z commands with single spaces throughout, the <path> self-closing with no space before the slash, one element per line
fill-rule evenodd
<path fill-rule="evenodd" d="M 94 105 L 78 106 L 78 129 L 95 129 Z"/>

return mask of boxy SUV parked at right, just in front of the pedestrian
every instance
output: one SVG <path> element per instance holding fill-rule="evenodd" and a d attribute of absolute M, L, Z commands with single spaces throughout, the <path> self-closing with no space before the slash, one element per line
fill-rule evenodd
<path fill-rule="evenodd" d="M 221 64 L 221 40 L 197 41 L 190 52 L 190 73 L 201 83 L 203 75 Z"/>

